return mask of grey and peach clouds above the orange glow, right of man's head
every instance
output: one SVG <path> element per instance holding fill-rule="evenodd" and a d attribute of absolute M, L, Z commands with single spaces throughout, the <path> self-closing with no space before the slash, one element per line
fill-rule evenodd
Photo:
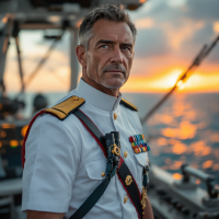
<path fill-rule="evenodd" d="M 201 46 L 211 43 L 219 32 L 218 9 L 218 0 L 146 2 L 138 12 L 131 14 L 140 30 L 136 45 L 137 56 L 170 55 L 192 60 Z M 214 54 L 208 58 L 211 62 L 217 61 L 217 48 Z"/>

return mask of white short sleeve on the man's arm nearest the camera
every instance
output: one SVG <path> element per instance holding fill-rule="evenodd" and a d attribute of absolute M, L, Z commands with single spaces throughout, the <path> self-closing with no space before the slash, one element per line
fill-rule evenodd
<path fill-rule="evenodd" d="M 25 146 L 22 211 L 68 211 L 80 161 L 73 139 L 51 115 L 35 120 Z"/>

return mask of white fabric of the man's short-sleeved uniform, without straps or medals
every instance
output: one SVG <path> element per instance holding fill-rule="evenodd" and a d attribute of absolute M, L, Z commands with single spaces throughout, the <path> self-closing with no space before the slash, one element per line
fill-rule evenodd
<path fill-rule="evenodd" d="M 141 191 L 147 152 L 135 154 L 129 142 L 130 136 L 142 132 L 136 112 L 119 104 L 122 95 L 118 99 L 110 96 L 83 80 L 59 102 L 71 95 L 85 99 L 80 110 L 103 135 L 113 130 L 120 132 L 122 157 Z M 126 159 L 125 151 L 128 152 Z M 67 219 L 101 183 L 106 169 L 103 151 L 73 114 L 65 120 L 48 114 L 39 116 L 26 141 L 25 159 L 22 210 L 66 212 Z M 125 196 L 127 193 L 115 175 L 84 219 L 138 218 L 130 199 L 124 204 Z"/>

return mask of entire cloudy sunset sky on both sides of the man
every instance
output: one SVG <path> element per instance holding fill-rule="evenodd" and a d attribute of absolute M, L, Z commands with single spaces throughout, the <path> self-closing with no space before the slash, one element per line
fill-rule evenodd
<path fill-rule="evenodd" d="M 123 91 L 170 90 L 204 44 L 209 45 L 219 35 L 218 11 L 218 0 L 150 0 L 130 12 L 138 36 L 131 76 Z M 20 34 L 25 79 L 51 44 L 43 35 L 43 31 L 23 31 Z M 69 47 L 70 37 L 66 33 L 27 91 L 69 91 Z M 13 39 L 4 80 L 8 91 L 20 90 Z M 219 92 L 219 44 L 178 91 Z"/>

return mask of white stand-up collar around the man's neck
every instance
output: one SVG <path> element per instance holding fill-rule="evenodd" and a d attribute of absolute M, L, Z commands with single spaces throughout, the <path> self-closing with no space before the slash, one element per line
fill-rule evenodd
<path fill-rule="evenodd" d="M 115 111 L 122 99 L 122 94 L 118 97 L 107 95 L 89 85 L 82 79 L 80 79 L 76 91 L 81 97 L 85 99 L 85 102 L 104 111 Z"/>

